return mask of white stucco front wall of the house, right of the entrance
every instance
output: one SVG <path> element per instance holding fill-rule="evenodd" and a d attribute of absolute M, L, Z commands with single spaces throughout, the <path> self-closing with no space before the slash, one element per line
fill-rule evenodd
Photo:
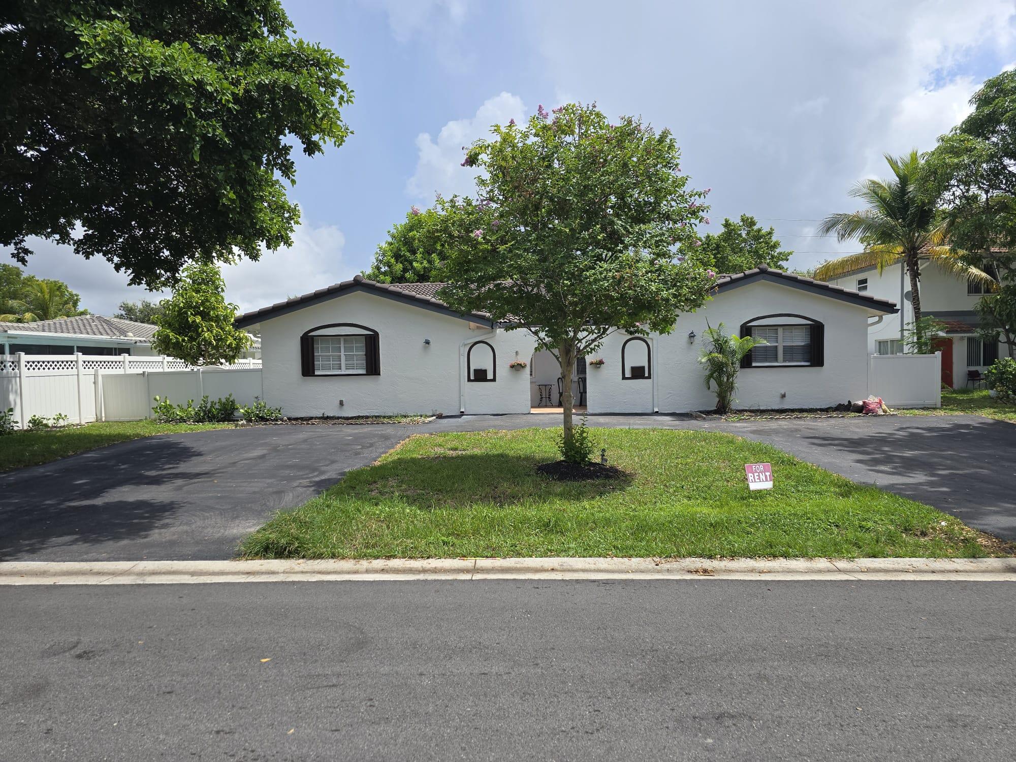
<path fill-rule="evenodd" d="M 621 346 L 627 334 L 608 337 L 599 353 L 606 364 L 589 367 L 590 412 L 687 412 L 711 409 L 716 397 L 705 387 L 698 362 L 706 321 L 739 333 L 745 321 L 773 313 L 805 315 L 825 325 L 822 367 L 745 368 L 738 377 L 740 408 L 826 407 L 868 394 L 868 311 L 788 285 L 756 281 L 716 295 L 698 312 L 678 319 L 674 332 L 649 337 L 652 378 L 621 378 Z M 763 321 L 796 323 L 792 318 Z M 689 331 L 697 334 L 694 343 Z M 781 396 L 785 392 L 785 396 Z M 655 397 L 655 404 L 653 403 Z"/>

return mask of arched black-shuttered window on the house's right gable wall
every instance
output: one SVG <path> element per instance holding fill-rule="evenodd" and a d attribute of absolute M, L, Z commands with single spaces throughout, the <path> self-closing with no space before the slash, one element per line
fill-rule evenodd
<path fill-rule="evenodd" d="M 741 335 L 765 340 L 742 358 L 742 368 L 825 365 L 825 325 L 815 318 L 788 312 L 759 315 L 741 324 Z"/>

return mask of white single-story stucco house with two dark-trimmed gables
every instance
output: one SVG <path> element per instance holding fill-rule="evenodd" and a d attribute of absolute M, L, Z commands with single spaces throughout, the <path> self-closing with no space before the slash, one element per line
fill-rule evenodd
<path fill-rule="evenodd" d="M 527 412 L 549 384 L 558 402 L 556 361 L 531 334 L 449 309 L 440 288 L 358 275 L 242 315 L 261 336 L 265 399 L 294 417 Z M 589 412 L 711 408 L 698 358 L 707 324 L 722 322 L 769 341 L 746 359 L 739 406 L 827 406 L 867 395 L 868 324 L 895 313 L 887 299 L 759 267 L 719 277 L 671 334 L 613 333 L 595 356 L 605 364 L 580 363 L 571 383 Z"/>

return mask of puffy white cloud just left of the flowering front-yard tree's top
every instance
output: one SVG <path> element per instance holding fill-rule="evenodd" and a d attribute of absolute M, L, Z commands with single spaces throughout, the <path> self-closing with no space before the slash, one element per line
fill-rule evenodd
<path fill-rule="evenodd" d="M 475 116 L 445 124 L 436 140 L 429 132 L 421 133 L 417 136 L 417 170 L 405 184 L 406 193 L 427 201 L 434 198 L 435 192 L 445 196 L 471 194 L 478 172 L 461 166 L 465 155 L 462 146 L 489 135 L 491 125 L 524 118 L 522 99 L 502 92 L 486 101 Z"/>

